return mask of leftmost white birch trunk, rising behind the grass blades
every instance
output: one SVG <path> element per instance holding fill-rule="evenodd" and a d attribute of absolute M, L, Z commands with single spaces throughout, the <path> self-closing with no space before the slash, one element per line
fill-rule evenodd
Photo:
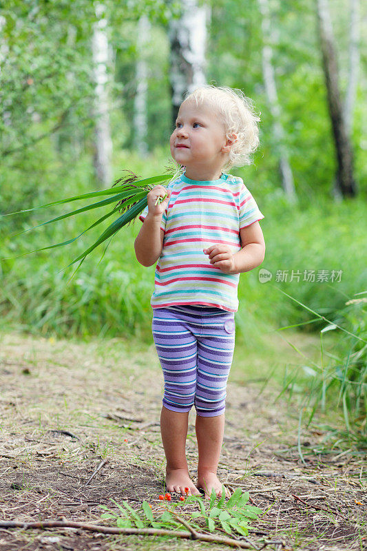
<path fill-rule="evenodd" d="M 96 16 L 98 21 L 94 23 L 92 54 L 94 63 L 94 79 L 96 81 L 96 97 L 94 101 L 94 114 L 96 118 L 94 168 L 96 170 L 98 180 L 101 181 L 103 186 L 107 186 L 112 180 L 112 139 L 109 129 L 109 102 L 107 94 L 107 19 L 105 19 L 104 12 L 105 7 L 103 4 L 97 3 Z"/>

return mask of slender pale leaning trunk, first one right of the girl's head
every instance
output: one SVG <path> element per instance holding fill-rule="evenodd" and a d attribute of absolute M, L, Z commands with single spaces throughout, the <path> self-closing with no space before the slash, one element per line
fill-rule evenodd
<path fill-rule="evenodd" d="M 289 155 L 285 145 L 284 128 L 280 118 L 280 105 L 277 98 L 277 87 L 275 83 L 274 67 L 272 63 L 273 50 L 273 32 L 271 30 L 269 4 L 268 0 L 258 0 L 260 12 L 262 14 L 262 74 L 264 76 L 264 85 L 266 96 L 269 101 L 270 112 L 273 116 L 273 135 L 277 144 L 277 154 L 279 156 L 280 175 L 282 177 L 282 187 L 291 202 L 295 202 L 295 186 L 293 181 L 293 172 L 289 163 Z"/>

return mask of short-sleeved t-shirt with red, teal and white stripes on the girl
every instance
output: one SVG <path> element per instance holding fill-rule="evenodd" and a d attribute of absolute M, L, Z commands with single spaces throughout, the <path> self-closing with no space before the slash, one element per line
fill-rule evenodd
<path fill-rule="evenodd" d="M 264 218 L 238 176 L 222 174 L 219 180 L 190 180 L 182 174 L 167 186 L 169 205 L 160 227 L 165 231 L 155 271 L 152 308 L 176 304 L 216 306 L 238 311 L 240 273 L 224 273 L 210 264 L 207 249 L 216 243 L 241 250 L 240 228 Z M 139 216 L 148 214 L 145 207 Z"/>

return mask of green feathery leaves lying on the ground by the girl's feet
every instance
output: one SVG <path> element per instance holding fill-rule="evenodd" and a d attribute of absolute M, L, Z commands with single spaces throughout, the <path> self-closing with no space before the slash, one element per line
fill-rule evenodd
<path fill-rule="evenodd" d="M 118 513 L 101 505 L 101 509 L 106 511 L 101 515 L 101 518 L 114 519 L 119 528 L 132 528 L 135 525 L 136 528 L 152 526 L 153 528 L 175 530 L 179 526 L 182 527 L 182 523 L 175 517 L 175 509 L 180 507 L 182 511 L 180 512 L 181 515 L 186 512 L 184 508 L 185 505 L 197 503 L 199 510 L 188 513 L 191 517 L 191 521 L 188 521 L 187 517 L 185 517 L 185 521 L 187 521 L 192 528 L 200 530 L 202 527 L 198 525 L 198 523 L 193 522 L 193 520 L 202 519 L 205 521 L 205 526 L 210 532 L 224 530 L 227 534 L 237 532 L 242 536 L 247 536 L 249 534 L 248 528 L 251 520 L 257 519 L 258 515 L 262 514 L 260 508 L 248 504 L 249 492 L 242 492 L 241 488 L 237 488 L 226 502 L 224 486 L 222 486 L 222 497 L 217 497 L 216 491 L 213 488 L 209 503 L 208 500 L 198 495 L 188 496 L 185 502 L 162 502 L 162 505 L 165 506 L 167 510 L 158 516 L 154 516 L 153 510 L 147 501 L 143 501 L 139 514 L 129 506 L 127 501 L 123 501 L 123 506 L 121 506 L 114 499 L 110 499 L 120 512 Z"/>

